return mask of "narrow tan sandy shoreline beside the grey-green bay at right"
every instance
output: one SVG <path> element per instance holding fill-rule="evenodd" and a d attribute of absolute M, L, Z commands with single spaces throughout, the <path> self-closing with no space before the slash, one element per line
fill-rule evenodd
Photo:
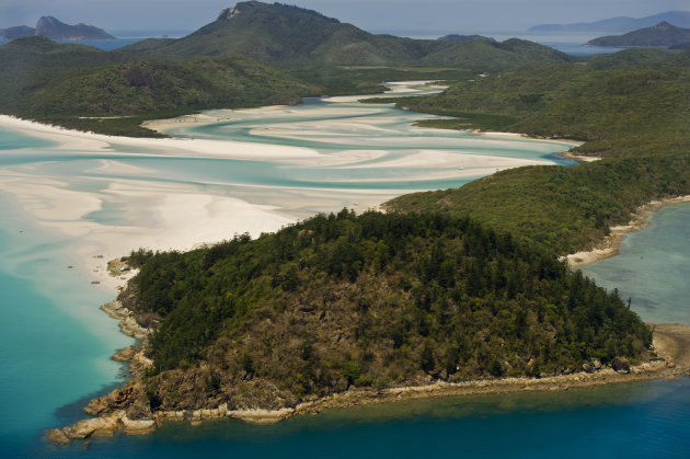
<path fill-rule="evenodd" d="M 565 255 L 564 259 L 567 261 L 568 266 L 575 267 L 616 256 L 620 252 L 621 241 L 625 234 L 649 226 L 647 217 L 665 206 L 683 203 L 690 203 L 690 195 L 651 200 L 637 207 L 628 225 L 611 227 L 611 233 L 603 238 L 594 249 L 571 253 Z"/>

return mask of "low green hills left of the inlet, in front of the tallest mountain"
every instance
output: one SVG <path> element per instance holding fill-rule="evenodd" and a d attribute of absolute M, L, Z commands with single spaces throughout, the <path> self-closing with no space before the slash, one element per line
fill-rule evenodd
<path fill-rule="evenodd" d="M 204 108 L 294 104 L 318 89 L 245 56 L 133 60 L 44 37 L 0 48 L 3 113 L 82 130 L 152 136 L 145 119 Z"/>

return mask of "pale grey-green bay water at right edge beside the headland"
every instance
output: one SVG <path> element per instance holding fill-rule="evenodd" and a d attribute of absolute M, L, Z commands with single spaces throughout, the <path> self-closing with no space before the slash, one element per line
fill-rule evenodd
<path fill-rule="evenodd" d="M 690 205 L 662 208 L 626 234 L 620 254 L 582 266 L 597 284 L 618 288 L 645 321 L 690 323 Z"/>

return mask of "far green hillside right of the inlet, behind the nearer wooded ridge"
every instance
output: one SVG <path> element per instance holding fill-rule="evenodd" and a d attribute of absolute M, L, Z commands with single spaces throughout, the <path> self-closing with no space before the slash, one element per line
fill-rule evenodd
<path fill-rule="evenodd" d="M 665 154 L 687 151 L 688 62 L 688 51 L 626 50 L 587 65 L 533 64 L 460 81 L 438 96 L 380 102 L 459 117 L 423 126 L 586 140 L 575 150 L 583 154 Z M 488 125 L 476 115 L 484 115 Z"/>

